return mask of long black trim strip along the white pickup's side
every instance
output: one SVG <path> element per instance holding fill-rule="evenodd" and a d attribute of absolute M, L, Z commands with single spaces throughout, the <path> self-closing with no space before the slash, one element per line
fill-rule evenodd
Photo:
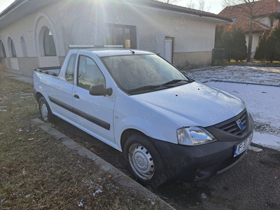
<path fill-rule="evenodd" d="M 74 109 L 72 106 L 69 106 L 53 97 L 48 97 L 48 98 L 50 99 L 50 102 L 57 104 L 58 106 L 61 106 L 62 108 L 66 109 L 68 111 L 71 111 L 72 113 L 80 116 L 81 118 L 84 118 L 85 120 L 89 120 L 90 122 L 92 122 L 96 125 L 99 125 L 100 127 L 103 127 L 106 130 L 110 130 L 110 128 L 111 128 L 110 123 L 106 123 L 105 121 L 100 120 L 99 118 L 95 118 L 94 116 L 90 116 L 89 114 L 87 114 L 83 111 Z"/>

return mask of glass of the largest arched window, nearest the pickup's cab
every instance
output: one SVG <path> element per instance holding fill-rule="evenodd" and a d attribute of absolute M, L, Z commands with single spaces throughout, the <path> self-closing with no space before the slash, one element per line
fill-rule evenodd
<path fill-rule="evenodd" d="M 57 56 L 57 51 L 55 50 L 55 40 L 53 39 L 52 32 L 48 27 L 42 28 L 43 35 L 43 50 L 45 56 Z"/>

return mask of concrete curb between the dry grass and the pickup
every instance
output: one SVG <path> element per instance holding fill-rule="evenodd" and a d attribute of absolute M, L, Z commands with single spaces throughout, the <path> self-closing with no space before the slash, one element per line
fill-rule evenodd
<path fill-rule="evenodd" d="M 62 144 L 64 144 L 68 148 L 71 148 L 73 151 L 76 151 L 76 153 L 78 153 L 80 156 L 93 160 L 94 163 L 97 164 L 100 169 L 102 169 L 104 172 L 108 172 L 109 174 L 111 174 L 113 181 L 116 181 L 116 183 L 120 184 L 121 186 L 124 186 L 125 188 L 133 188 L 137 190 L 137 193 L 139 195 L 151 200 L 155 200 L 155 202 L 159 204 L 160 209 L 174 210 L 174 207 L 167 204 L 167 202 L 160 199 L 160 197 L 147 190 L 133 179 L 130 179 L 130 177 L 125 175 L 123 172 L 120 172 L 120 170 L 116 169 L 116 167 L 113 167 L 99 156 L 87 150 L 85 147 L 80 146 L 80 144 L 76 143 L 76 141 L 73 141 L 61 132 L 55 130 L 55 128 L 48 125 L 48 123 L 44 123 L 38 118 L 33 119 L 32 122 L 36 123 L 36 125 L 41 127 L 45 132 L 48 132 L 48 134 L 59 139 L 62 142 Z"/>

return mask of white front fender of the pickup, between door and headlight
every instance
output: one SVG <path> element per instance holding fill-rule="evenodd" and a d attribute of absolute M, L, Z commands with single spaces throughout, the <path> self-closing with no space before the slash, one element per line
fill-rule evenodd
<path fill-rule="evenodd" d="M 147 137 L 177 144 L 176 130 L 181 127 L 164 113 L 117 90 L 114 109 L 114 135 L 116 148 L 122 151 L 121 137 L 125 130 L 137 130 Z"/>

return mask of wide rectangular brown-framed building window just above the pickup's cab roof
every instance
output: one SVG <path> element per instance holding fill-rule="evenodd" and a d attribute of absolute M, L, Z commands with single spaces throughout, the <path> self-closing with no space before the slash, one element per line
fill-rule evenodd
<path fill-rule="evenodd" d="M 136 27 L 113 25 L 111 33 L 106 37 L 107 45 L 123 45 L 124 48 L 137 48 Z"/>

